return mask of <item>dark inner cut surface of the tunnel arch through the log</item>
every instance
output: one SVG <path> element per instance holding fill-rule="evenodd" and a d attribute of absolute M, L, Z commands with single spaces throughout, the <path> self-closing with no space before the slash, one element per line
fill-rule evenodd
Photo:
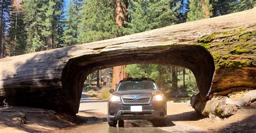
<path fill-rule="evenodd" d="M 140 49 L 104 51 L 97 55 L 71 58 L 62 72 L 62 85 L 68 98 L 68 112 L 76 114 L 85 78 L 89 73 L 104 68 L 125 64 L 165 64 L 190 69 L 196 77 L 202 98 L 207 99 L 214 74 L 211 54 L 198 45 L 153 46 Z"/>

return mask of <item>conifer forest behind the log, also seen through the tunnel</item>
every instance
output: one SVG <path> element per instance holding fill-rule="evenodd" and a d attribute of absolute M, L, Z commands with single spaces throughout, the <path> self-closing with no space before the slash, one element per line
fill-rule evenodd
<path fill-rule="evenodd" d="M 252 9 L 255 0 L 0 0 L 0 58 L 116 38 L 187 21 Z M 184 68 L 131 64 L 121 71 L 151 77 L 173 91 L 194 91 L 195 80 Z M 138 72 L 136 72 L 138 71 Z M 112 70 L 107 70 L 108 82 Z M 98 73 L 90 75 L 90 80 Z M 179 73 L 179 74 L 178 74 Z M 111 76 L 110 76 L 111 75 Z M 183 76 L 184 75 L 184 76 Z M 99 78 L 100 77 L 100 78 Z"/>

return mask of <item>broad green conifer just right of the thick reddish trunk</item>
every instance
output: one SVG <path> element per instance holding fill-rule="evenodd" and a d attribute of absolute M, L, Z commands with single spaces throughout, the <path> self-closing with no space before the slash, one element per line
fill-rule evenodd
<path fill-rule="evenodd" d="M 178 23 L 179 6 L 173 0 L 130 2 L 124 34 L 144 32 L 150 29 L 170 26 Z"/>

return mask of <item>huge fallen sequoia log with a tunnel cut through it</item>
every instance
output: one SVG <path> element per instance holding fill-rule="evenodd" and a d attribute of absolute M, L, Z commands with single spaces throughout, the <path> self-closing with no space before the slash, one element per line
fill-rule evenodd
<path fill-rule="evenodd" d="M 190 69 L 199 97 L 255 90 L 256 9 L 0 59 L 0 101 L 76 114 L 89 73 L 132 63 Z M 202 102 L 201 102 L 202 103 Z"/>

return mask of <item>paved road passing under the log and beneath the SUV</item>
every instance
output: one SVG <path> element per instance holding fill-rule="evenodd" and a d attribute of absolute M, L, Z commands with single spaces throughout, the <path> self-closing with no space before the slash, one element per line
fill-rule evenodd
<path fill-rule="evenodd" d="M 173 108 L 171 106 L 174 105 L 183 105 L 186 106 L 185 103 L 167 103 L 167 108 Z M 168 110 L 169 110 L 168 109 Z M 168 124 L 167 127 L 157 128 L 153 127 L 152 124 L 149 121 L 125 121 L 124 128 L 114 128 L 109 127 L 107 122 L 98 122 L 98 123 L 91 123 L 91 124 L 85 124 L 80 125 L 76 128 L 71 129 L 64 129 L 64 130 L 58 130 L 58 132 L 204 132 L 204 130 L 201 130 L 200 128 L 193 126 L 193 125 L 186 125 L 183 123 L 180 123 L 180 119 L 184 119 L 184 117 L 187 117 L 186 113 L 180 113 L 179 115 L 173 115 L 179 112 L 168 112 L 167 110 L 167 120 Z M 80 100 L 80 107 L 79 112 L 84 113 L 99 113 L 104 114 L 106 116 L 107 114 L 107 102 L 102 100 L 95 100 L 89 96 L 87 96 L 85 93 L 82 94 L 82 98 Z M 189 112 L 188 112 L 189 113 Z M 185 116 L 184 116 L 184 115 Z M 183 117 L 183 118 L 182 118 Z M 192 118 L 193 119 L 193 118 Z M 181 120 L 183 121 L 183 120 Z"/>

